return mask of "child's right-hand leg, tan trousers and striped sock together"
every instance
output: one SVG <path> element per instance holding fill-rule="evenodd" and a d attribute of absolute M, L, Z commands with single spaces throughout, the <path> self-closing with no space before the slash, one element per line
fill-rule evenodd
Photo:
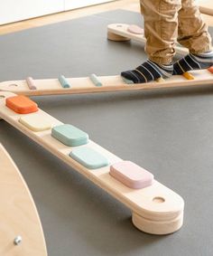
<path fill-rule="evenodd" d="M 208 27 L 202 21 L 199 7 L 193 0 L 182 0 L 182 8 L 179 11 L 178 42 L 187 47 L 190 54 L 174 63 L 174 74 L 207 69 L 213 65 Z"/>

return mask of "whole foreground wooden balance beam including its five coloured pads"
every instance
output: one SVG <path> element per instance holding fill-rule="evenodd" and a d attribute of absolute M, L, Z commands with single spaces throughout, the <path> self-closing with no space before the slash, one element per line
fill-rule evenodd
<path fill-rule="evenodd" d="M 2 119 L 130 208 L 139 230 L 167 234 L 181 228 L 181 196 L 159 183 L 152 173 L 108 152 L 86 132 L 54 119 L 25 96 L 4 91 L 0 96 Z"/>

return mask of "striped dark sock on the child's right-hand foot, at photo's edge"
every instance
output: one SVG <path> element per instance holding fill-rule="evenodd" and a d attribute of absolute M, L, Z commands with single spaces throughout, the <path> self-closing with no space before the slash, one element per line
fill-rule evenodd
<path fill-rule="evenodd" d="M 181 75 L 187 71 L 205 70 L 213 66 L 213 52 L 200 54 L 187 54 L 181 60 L 174 63 L 174 75 Z"/>

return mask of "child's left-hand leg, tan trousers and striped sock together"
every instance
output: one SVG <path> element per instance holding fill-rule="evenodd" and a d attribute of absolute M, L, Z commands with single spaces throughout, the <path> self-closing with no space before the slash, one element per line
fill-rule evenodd
<path fill-rule="evenodd" d="M 178 34 L 181 0 L 141 0 L 144 15 L 145 52 L 149 61 L 121 75 L 135 83 L 171 76 L 174 42 Z"/>

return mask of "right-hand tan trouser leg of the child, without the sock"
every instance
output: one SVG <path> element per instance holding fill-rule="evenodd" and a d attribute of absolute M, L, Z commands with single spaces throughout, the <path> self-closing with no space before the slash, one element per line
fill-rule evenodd
<path fill-rule="evenodd" d="M 203 22 L 199 7 L 194 0 L 181 0 L 182 7 L 178 14 L 178 42 L 191 53 L 207 52 L 211 49 L 211 36 L 208 26 Z"/>

